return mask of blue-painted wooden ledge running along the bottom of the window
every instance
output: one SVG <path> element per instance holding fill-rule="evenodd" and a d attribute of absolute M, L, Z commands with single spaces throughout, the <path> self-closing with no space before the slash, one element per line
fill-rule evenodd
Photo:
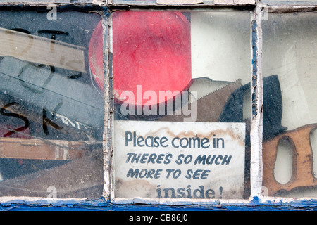
<path fill-rule="evenodd" d="M 146 211 L 146 212 L 190 212 L 190 211 L 317 211 L 317 200 L 296 200 L 292 202 L 262 203 L 254 198 L 247 204 L 232 205 L 153 205 L 153 204 L 113 204 L 106 200 L 85 200 L 79 203 L 58 200 L 58 203 L 2 203 L 1 211 Z"/>

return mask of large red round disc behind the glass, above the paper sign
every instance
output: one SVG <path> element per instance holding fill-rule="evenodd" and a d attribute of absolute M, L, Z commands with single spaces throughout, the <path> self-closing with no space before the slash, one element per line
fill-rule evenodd
<path fill-rule="evenodd" d="M 101 29 L 101 24 L 96 30 Z M 99 86 L 102 32 L 89 46 L 89 63 Z M 167 101 L 187 89 L 192 80 L 189 20 L 180 12 L 125 11 L 113 13 L 113 89 L 116 99 L 135 105 Z M 92 48 L 92 50 L 90 49 Z M 100 59 L 101 58 L 101 59 Z M 98 62 L 98 63 L 97 63 Z M 102 74 L 103 75 L 103 74 Z M 101 83 L 101 84 L 100 84 Z M 131 96 L 132 95 L 132 96 Z M 156 97 L 156 98 L 155 98 Z"/>

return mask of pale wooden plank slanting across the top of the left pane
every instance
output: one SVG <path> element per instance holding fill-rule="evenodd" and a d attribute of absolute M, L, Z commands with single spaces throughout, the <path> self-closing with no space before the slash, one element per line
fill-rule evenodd
<path fill-rule="evenodd" d="M 0 56 L 13 56 L 32 63 L 86 72 L 84 49 L 0 27 Z"/>

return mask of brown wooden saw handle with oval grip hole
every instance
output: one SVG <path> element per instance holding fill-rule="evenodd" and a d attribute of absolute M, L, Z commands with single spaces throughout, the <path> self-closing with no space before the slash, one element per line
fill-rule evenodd
<path fill-rule="evenodd" d="M 313 176 L 313 151 L 309 139 L 316 128 L 317 124 L 308 124 L 263 142 L 263 186 L 268 188 L 269 196 L 281 190 L 291 191 L 293 188 L 317 185 L 317 179 Z M 287 139 L 292 145 L 292 176 L 286 184 L 280 184 L 274 177 L 278 143 L 282 139 Z"/>

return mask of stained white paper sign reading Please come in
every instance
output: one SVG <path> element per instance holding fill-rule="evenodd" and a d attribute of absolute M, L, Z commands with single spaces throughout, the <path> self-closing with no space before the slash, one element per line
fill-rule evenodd
<path fill-rule="evenodd" d="M 114 123 L 120 198 L 242 198 L 244 123 Z"/>

